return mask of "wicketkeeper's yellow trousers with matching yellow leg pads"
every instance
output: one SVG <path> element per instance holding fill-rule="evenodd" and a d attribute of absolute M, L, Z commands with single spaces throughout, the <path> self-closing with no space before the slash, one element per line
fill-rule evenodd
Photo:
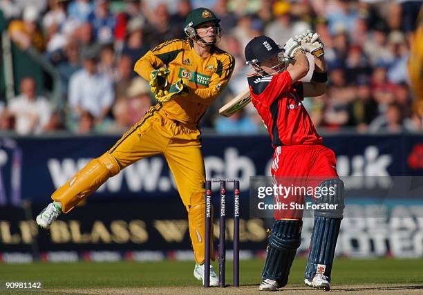
<path fill-rule="evenodd" d="M 204 262 L 205 167 L 199 135 L 196 124 L 187 125 L 170 120 L 160 110 L 160 105 L 153 106 L 107 153 L 88 163 L 63 187 L 57 189 L 52 198 L 62 202 L 62 211 L 67 213 L 121 169 L 142 158 L 162 154 L 188 211 L 194 256 L 196 262 L 201 264 Z"/>

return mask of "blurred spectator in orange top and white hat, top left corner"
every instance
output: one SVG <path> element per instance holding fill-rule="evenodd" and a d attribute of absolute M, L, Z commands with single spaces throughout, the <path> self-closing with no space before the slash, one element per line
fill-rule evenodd
<path fill-rule="evenodd" d="M 22 20 L 15 19 L 9 24 L 9 34 L 20 48 L 34 47 L 40 52 L 44 50 L 44 39 L 37 27 L 39 12 L 34 6 L 26 6 Z"/>

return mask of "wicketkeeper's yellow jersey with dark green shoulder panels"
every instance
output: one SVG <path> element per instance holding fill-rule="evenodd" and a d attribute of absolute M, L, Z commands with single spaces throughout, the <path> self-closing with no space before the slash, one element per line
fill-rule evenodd
<path fill-rule="evenodd" d="M 135 64 L 135 72 L 149 80 L 152 70 L 166 65 L 170 73 L 169 84 L 183 78 L 189 87 L 189 94 L 176 95 L 164 102 L 160 112 L 184 124 L 198 124 L 219 93 L 229 82 L 235 66 L 235 59 L 229 53 L 212 48 L 210 55 L 200 57 L 189 39 L 173 39 L 149 50 Z"/>

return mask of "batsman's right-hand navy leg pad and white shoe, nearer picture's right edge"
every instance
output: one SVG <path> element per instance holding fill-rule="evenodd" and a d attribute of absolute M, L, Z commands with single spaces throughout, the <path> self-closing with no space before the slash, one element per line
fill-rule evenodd
<path fill-rule="evenodd" d="M 315 202 L 317 204 L 333 204 L 336 209 L 314 211 L 314 227 L 305 283 L 312 287 L 329 289 L 339 227 L 344 217 L 344 182 L 339 178 L 325 180 L 321 182 L 320 187 L 322 192 L 327 191 L 328 193 L 322 193 L 321 198 L 315 199 Z M 324 283 L 323 280 L 326 280 L 327 283 Z"/>

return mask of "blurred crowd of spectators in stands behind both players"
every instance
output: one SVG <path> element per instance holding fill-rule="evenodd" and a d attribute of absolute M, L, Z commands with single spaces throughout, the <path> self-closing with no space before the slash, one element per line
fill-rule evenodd
<path fill-rule="evenodd" d="M 34 48 L 62 82 L 64 108 L 44 97 L 34 77 L 0 101 L 0 129 L 19 134 L 59 130 L 122 133 L 155 104 L 149 85 L 133 72 L 147 50 L 185 38 L 185 17 L 208 7 L 222 19 L 218 44 L 236 57 L 229 86 L 202 126 L 218 133 L 260 133 L 252 106 L 226 118 L 218 108 L 247 87 L 244 48 L 257 35 L 283 45 L 308 29 L 326 46 L 328 88 L 306 98 L 314 124 L 326 130 L 422 131 L 413 113 L 406 64 L 423 1 L 339 0 L 0 0 L 8 34 L 21 50 Z"/>

